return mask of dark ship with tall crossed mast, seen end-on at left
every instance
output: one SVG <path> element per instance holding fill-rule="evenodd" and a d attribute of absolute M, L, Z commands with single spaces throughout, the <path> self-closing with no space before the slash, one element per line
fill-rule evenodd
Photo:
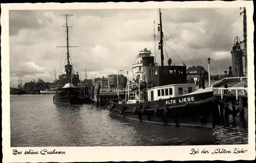
<path fill-rule="evenodd" d="M 53 96 L 53 102 L 55 104 L 79 104 L 80 99 L 79 94 L 81 88 L 79 88 L 79 75 L 78 72 L 75 74 L 73 66 L 70 64 L 70 46 L 69 45 L 69 26 L 68 26 L 68 14 L 63 14 L 66 16 L 66 33 L 67 33 L 67 46 L 57 46 L 59 48 L 67 48 L 67 64 L 65 65 L 65 74 L 59 75 L 58 86 L 56 89 L 56 94 Z M 84 100 L 84 99 L 83 99 Z"/>

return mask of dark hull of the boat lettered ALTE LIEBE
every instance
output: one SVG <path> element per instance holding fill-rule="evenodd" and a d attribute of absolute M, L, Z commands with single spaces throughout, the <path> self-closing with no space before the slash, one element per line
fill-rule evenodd
<path fill-rule="evenodd" d="M 217 104 L 218 99 L 213 93 L 206 92 L 126 105 L 111 100 L 108 108 L 110 114 L 117 117 L 144 123 L 212 128 L 212 114 L 218 108 Z"/>

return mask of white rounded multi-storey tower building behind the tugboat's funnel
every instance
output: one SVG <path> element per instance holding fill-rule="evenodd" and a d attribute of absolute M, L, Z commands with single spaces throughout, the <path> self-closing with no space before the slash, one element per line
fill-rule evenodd
<path fill-rule="evenodd" d="M 137 76 L 138 78 L 140 78 L 142 76 L 143 74 L 142 57 L 150 57 L 151 54 L 152 54 L 151 51 L 147 50 L 146 48 L 144 48 L 144 50 L 141 50 L 139 52 L 136 58 L 136 63 L 133 64 L 133 77 Z M 155 65 L 157 66 L 158 64 L 155 63 Z M 142 81 L 143 79 L 141 78 L 140 80 Z"/>

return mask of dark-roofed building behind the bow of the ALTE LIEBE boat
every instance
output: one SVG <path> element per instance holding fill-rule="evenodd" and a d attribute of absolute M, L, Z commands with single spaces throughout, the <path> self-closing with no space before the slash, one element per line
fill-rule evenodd
<path fill-rule="evenodd" d="M 202 66 L 191 66 L 187 68 L 187 81 L 188 82 L 195 82 L 194 80 L 196 80 L 196 82 L 198 83 L 199 80 L 201 79 L 201 77 L 204 75 L 205 80 L 208 81 L 208 72 L 205 70 L 204 67 Z"/>

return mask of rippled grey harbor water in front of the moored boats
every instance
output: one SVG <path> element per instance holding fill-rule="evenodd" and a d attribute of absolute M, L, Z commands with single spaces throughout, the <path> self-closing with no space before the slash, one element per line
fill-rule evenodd
<path fill-rule="evenodd" d="M 214 129 L 121 120 L 105 106 L 59 106 L 53 95 L 11 95 L 11 147 L 247 144 L 248 128 L 232 117 Z"/>

